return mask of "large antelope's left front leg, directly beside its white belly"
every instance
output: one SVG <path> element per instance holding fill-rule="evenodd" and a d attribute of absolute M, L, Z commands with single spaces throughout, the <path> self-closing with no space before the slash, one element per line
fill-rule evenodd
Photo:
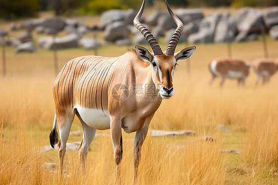
<path fill-rule="evenodd" d="M 118 118 L 111 118 L 110 120 L 111 139 L 114 147 L 114 160 L 116 163 L 116 184 L 121 182 L 120 163 L 123 156 L 123 138 L 121 120 Z"/>

